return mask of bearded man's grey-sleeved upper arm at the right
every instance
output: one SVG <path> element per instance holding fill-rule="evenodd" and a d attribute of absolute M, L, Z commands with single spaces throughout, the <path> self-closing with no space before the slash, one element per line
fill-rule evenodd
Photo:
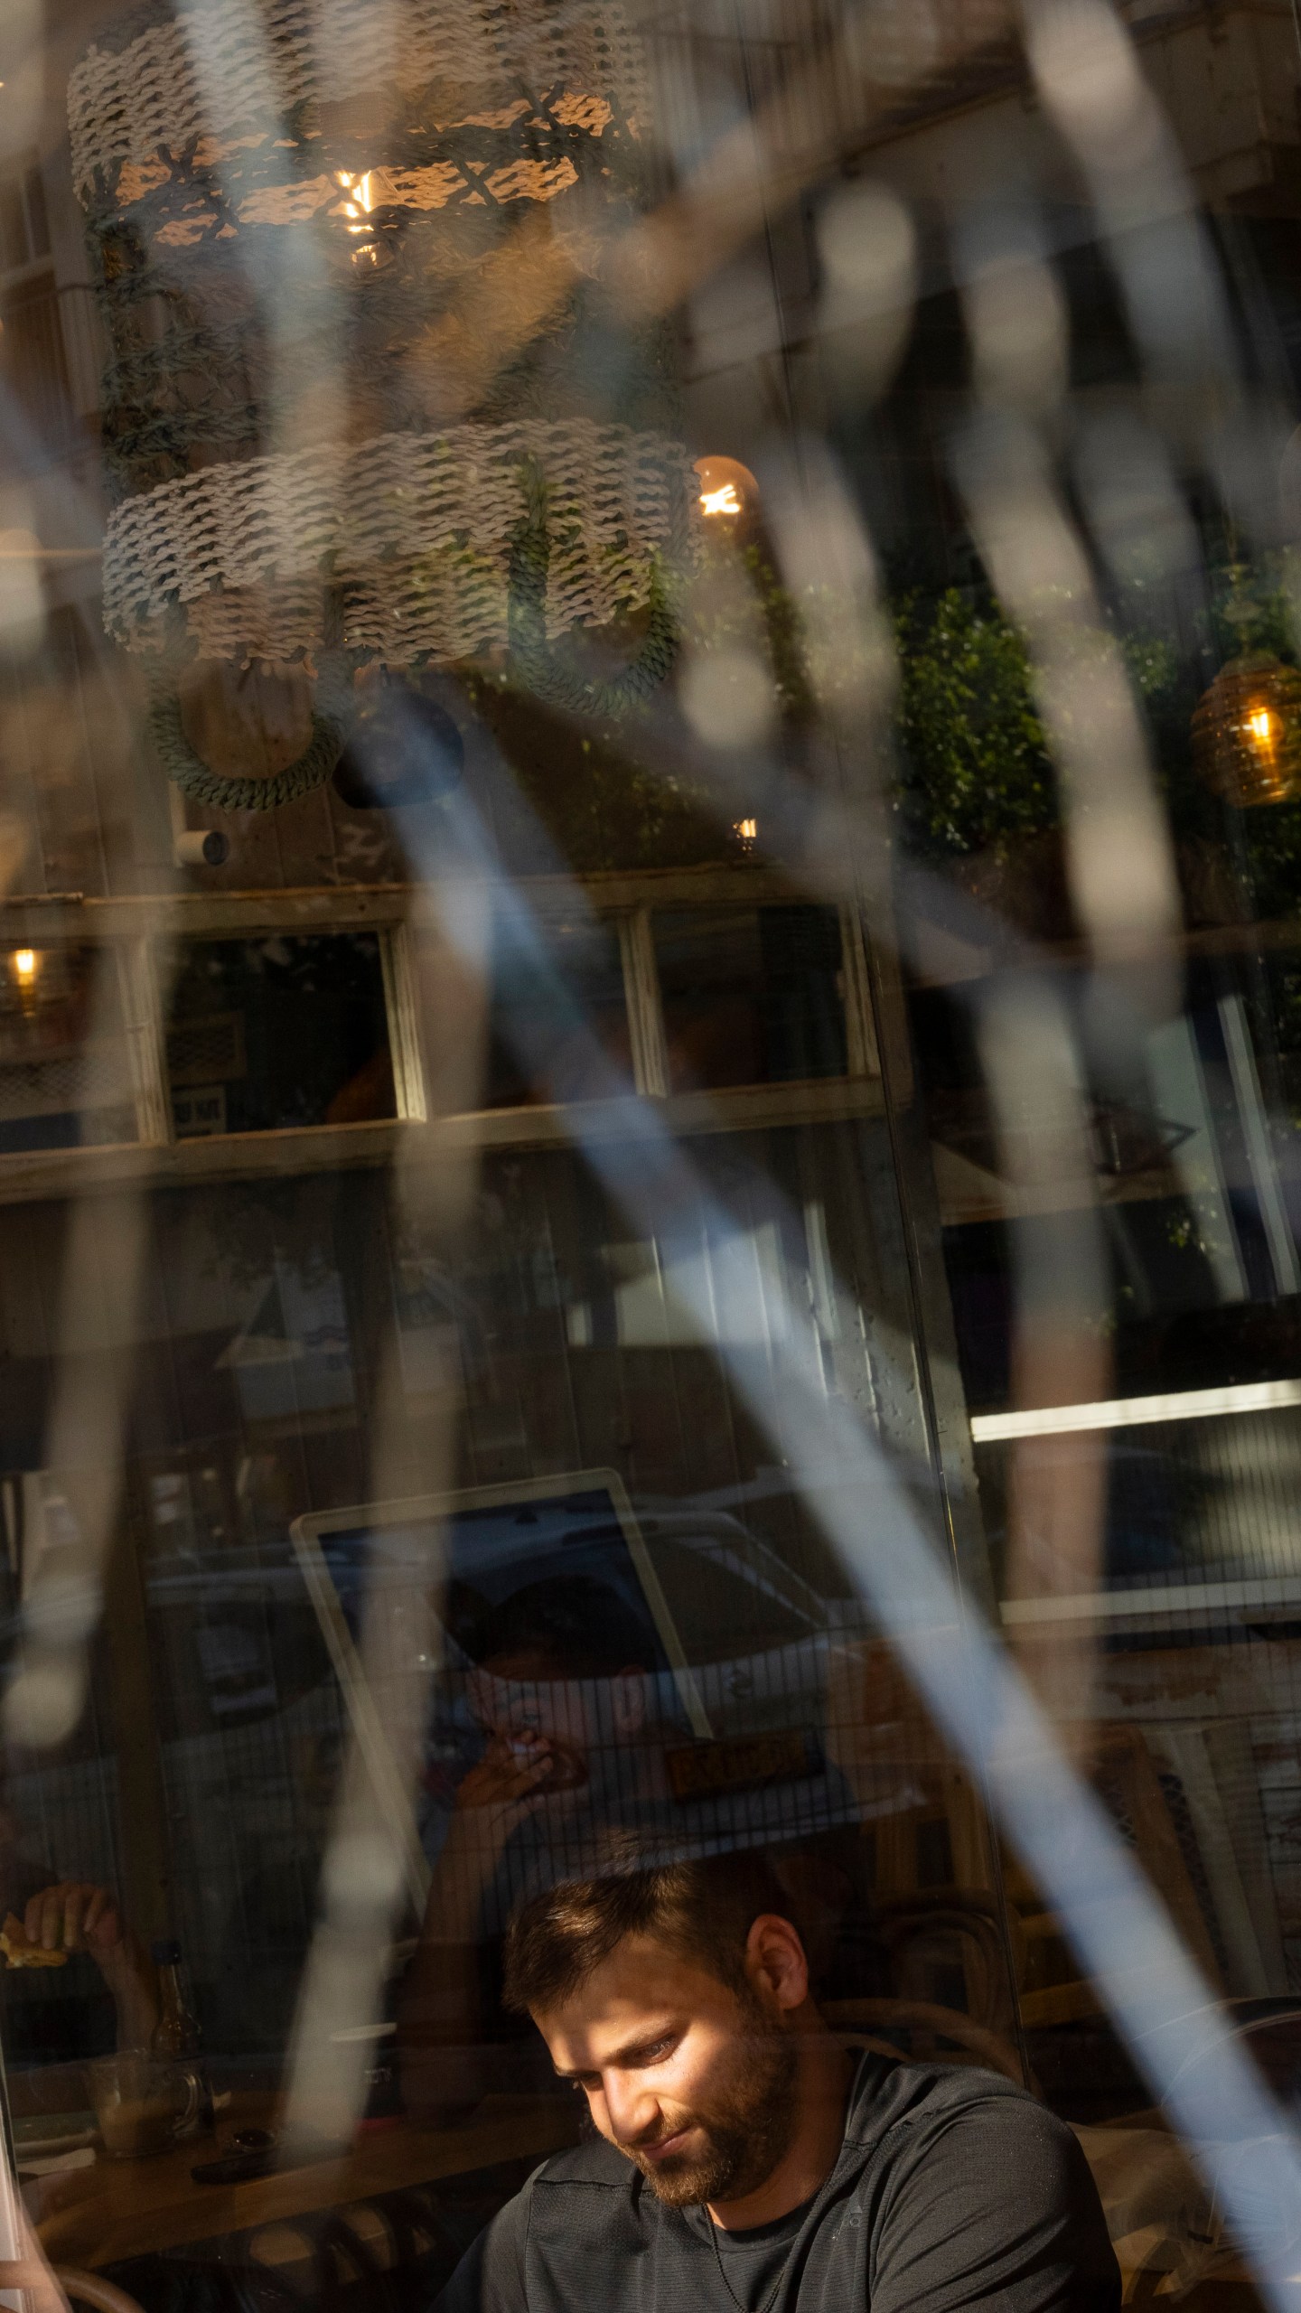
<path fill-rule="evenodd" d="M 1118 2313 L 1120 2271 L 1072 2130 L 991 2093 L 896 2153 L 875 2230 L 873 2313 Z"/>

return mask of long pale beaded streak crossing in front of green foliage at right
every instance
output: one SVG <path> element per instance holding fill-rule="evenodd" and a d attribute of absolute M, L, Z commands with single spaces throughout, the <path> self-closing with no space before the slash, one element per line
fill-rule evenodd
<path fill-rule="evenodd" d="M 1081 923 L 1097 962 L 1155 971 L 1181 923 L 1169 833 L 1079 537 L 1026 428 L 972 423 L 956 465 L 982 560 L 1030 643 Z M 1151 1004 L 1169 1011 L 1171 988 L 1153 985 Z"/>

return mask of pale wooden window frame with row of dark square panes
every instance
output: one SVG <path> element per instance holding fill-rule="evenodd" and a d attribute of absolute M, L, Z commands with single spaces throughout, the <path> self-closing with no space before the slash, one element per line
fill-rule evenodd
<path fill-rule="evenodd" d="M 574 909 L 574 881 L 595 916 L 618 930 L 630 1025 L 632 1082 L 674 1133 L 745 1131 L 884 1113 L 861 911 L 840 904 L 843 1004 L 847 1066 L 838 1078 L 736 1085 L 715 1092 L 669 1092 L 664 1011 L 655 962 L 657 909 L 720 904 L 762 907 L 810 900 L 776 867 L 641 870 L 597 877 L 535 877 L 521 891 L 542 925 Z M 458 884 L 461 893 L 463 886 Z M 493 886 L 482 886 L 484 902 Z M 167 1078 L 167 988 L 176 953 L 190 939 L 257 939 L 275 932 L 380 934 L 384 1015 L 394 1059 L 396 1117 L 361 1124 L 294 1124 L 257 1133 L 211 1133 L 178 1140 Z M 440 891 L 414 884 L 322 886 L 303 891 L 188 891 L 95 900 L 76 893 L 12 900 L 0 907 L 5 946 L 79 941 L 116 953 L 132 1064 L 137 1133 L 113 1147 L 0 1154 L 0 1205 L 79 1194 L 93 1187 L 236 1180 L 326 1173 L 389 1161 L 412 1133 L 428 1159 L 465 1147 L 546 1147 L 602 1133 L 627 1136 L 627 1110 L 607 1101 L 532 1103 L 438 1113 L 431 1094 L 421 944 L 438 944 Z"/>

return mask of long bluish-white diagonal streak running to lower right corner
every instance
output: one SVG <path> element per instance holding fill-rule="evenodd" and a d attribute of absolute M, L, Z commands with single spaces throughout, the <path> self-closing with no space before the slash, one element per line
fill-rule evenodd
<path fill-rule="evenodd" d="M 458 805 L 458 830 L 475 842 L 484 872 L 493 865 L 470 805 Z M 581 907 L 581 895 L 574 893 Z M 528 902 L 502 888 L 512 937 L 532 955 L 539 983 L 565 1004 L 563 988 L 537 937 Z M 579 1022 L 576 1022 L 579 1025 Z M 528 1036 L 528 1029 L 523 1029 Z M 1042 1032 L 1049 1034 L 1051 1029 Z M 1042 1036 L 1039 1036 L 1042 1050 Z M 674 1258 L 690 1231 L 706 1226 L 727 1237 L 734 1221 L 715 1205 L 683 1145 L 674 1143 L 653 1103 L 632 1106 L 627 1080 L 595 1048 L 593 1082 L 602 1082 L 611 1115 L 630 1106 L 630 1131 L 588 1133 L 586 1110 L 574 1110 L 576 1143 L 593 1175 L 627 1214 L 639 1237 L 655 1237 Z M 1065 1073 L 1063 1073 L 1065 1071 Z M 1070 1052 L 1058 1055 L 1053 1113 L 1070 1115 Z M 690 1263 L 681 1291 L 704 1291 Z M 785 1293 L 785 1284 L 778 1284 Z M 697 1302 L 694 1321 L 711 1337 L 715 1311 Z M 988 1628 L 958 1598 L 947 1557 L 933 1550 L 889 1469 L 877 1439 L 852 1404 L 826 1392 L 810 1328 L 789 1316 L 769 1330 L 764 1367 L 734 1342 L 720 1342 L 738 1399 L 773 1434 L 780 1404 L 780 1453 L 792 1485 L 806 1497 L 838 1550 L 859 1596 L 894 1642 L 907 1675 L 958 1756 L 984 1767 L 1002 1830 L 1039 1883 L 1046 1906 L 1060 1913 L 1070 1943 L 1097 1982 L 1104 2005 L 1125 2035 L 1153 2093 L 1167 2098 L 1174 2128 L 1188 2137 L 1222 2195 L 1229 2223 L 1252 2257 L 1276 2313 L 1294 2313 L 1294 2253 L 1278 2227 L 1259 2223 L 1262 2207 L 1301 2204 L 1301 2158 L 1289 2126 L 1255 2070 L 1234 2045 L 1197 1966 L 1153 1894 L 1137 1857 L 1111 1825 L 1102 1802 L 1074 1774 L 1026 1682 L 991 1640 Z M 1197 2061 L 1195 2061 L 1197 2059 Z M 1199 2084 L 1201 2079 L 1201 2084 Z M 1250 2160 L 1234 2156 L 1250 2146 Z"/>

